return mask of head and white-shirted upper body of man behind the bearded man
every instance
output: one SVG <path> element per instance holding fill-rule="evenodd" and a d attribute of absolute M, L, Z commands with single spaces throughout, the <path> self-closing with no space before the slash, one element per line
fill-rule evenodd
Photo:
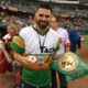
<path fill-rule="evenodd" d="M 59 41 L 59 51 L 57 52 L 58 55 L 65 53 L 65 52 L 69 52 L 69 36 L 68 36 L 68 32 L 65 29 L 59 28 L 59 23 L 58 23 L 58 18 L 57 16 L 52 16 L 51 20 L 51 28 L 57 32 L 58 35 L 58 41 Z"/>

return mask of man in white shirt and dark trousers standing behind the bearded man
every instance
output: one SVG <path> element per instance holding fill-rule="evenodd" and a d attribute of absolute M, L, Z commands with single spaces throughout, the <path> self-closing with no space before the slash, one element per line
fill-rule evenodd
<path fill-rule="evenodd" d="M 57 52 L 57 55 L 61 55 L 65 52 L 69 51 L 69 38 L 68 38 L 68 33 L 65 29 L 58 28 L 58 18 L 57 16 L 52 16 L 52 21 L 51 21 L 51 28 L 54 29 L 54 31 L 57 32 L 58 34 L 58 41 L 59 41 L 59 50 Z M 53 87 L 56 86 L 56 78 L 55 78 L 56 73 L 53 70 Z M 66 76 L 64 74 L 58 75 L 59 77 L 59 82 L 61 82 L 61 88 L 67 88 L 67 82 L 66 82 Z"/>

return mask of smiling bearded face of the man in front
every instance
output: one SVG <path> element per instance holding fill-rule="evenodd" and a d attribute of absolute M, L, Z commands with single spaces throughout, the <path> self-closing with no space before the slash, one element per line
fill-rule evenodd
<path fill-rule="evenodd" d="M 40 29 L 46 29 L 51 22 L 51 10 L 40 8 L 35 13 L 35 22 Z"/>

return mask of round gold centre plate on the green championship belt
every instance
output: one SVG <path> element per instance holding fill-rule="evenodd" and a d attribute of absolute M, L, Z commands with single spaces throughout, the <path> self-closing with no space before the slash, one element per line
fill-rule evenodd
<path fill-rule="evenodd" d="M 77 56 L 70 52 L 61 55 L 57 62 L 61 69 L 65 72 L 74 70 L 78 65 Z"/>

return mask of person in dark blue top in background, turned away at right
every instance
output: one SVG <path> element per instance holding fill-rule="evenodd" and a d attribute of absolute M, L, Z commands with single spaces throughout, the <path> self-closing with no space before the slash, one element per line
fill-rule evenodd
<path fill-rule="evenodd" d="M 77 24 L 74 24 L 74 28 L 68 30 L 69 40 L 70 40 L 70 52 L 73 53 L 76 53 L 77 46 L 80 47 L 80 36 L 77 31 L 78 31 Z"/>

